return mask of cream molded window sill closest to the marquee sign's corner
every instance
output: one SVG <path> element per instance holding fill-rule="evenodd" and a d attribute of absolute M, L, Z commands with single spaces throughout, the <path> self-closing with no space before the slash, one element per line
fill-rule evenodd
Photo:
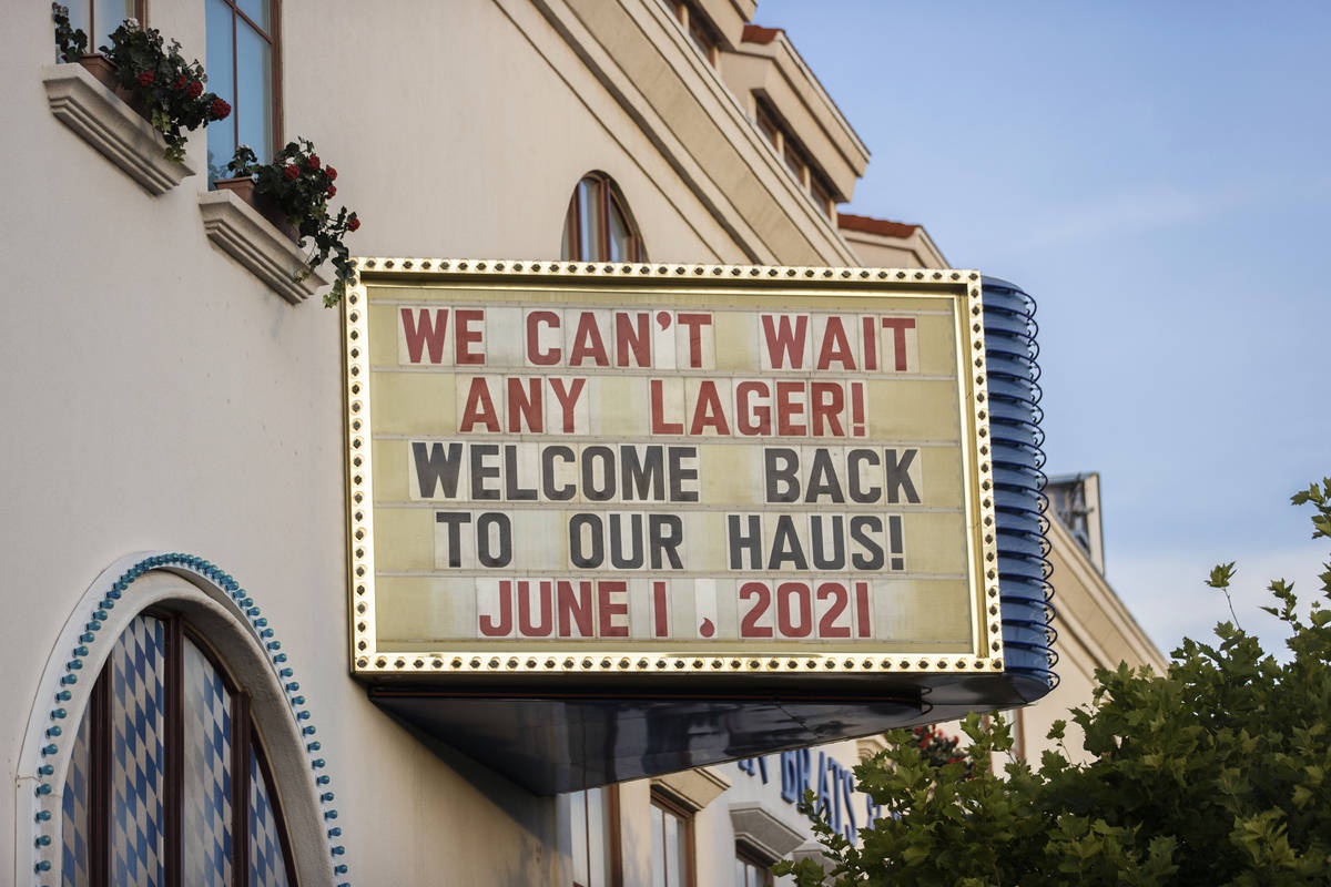
<path fill-rule="evenodd" d="M 295 275 L 305 269 L 305 254 L 236 194 L 208 191 L 198 198 L 198 211 L 208 239 L 291 305 L 333 282 L 322 267 L 297 281 Z"/>

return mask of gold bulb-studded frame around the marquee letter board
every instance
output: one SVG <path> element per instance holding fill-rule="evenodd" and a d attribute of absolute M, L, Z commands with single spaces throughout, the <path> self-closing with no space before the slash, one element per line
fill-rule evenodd
<path fill-rule="evenodd" d="M 989 459 L 984 307 L 978 271 L 936 269 L 791 267 L 681 263 L 587 263 L 566 261 L 492 261 L 450 258 L 357 258 L 358 281 L 342 302 L 343 415 L 346 431 L 346 520 L 351 674 L 359 678 L 414 678 L 433 682 L 478 680 L 530 684 L 579 676 L 600 684 L 614 676 L 868 676 L 985 674 L 1002 670 L 993 467 Z M 371 465 L 369 295 L 367 283 L 427 283 L 498 287 L 560 285 L 626 290 L 705 287 L 772 295 L 783 289 L 808 295 L 905 294 L 948 298 L 954 305 L 960 403 L 962 489 L 970 567 L 970 650 L 921 653 L 865 649 L 855 653 L 801 650 L 756 656 L 752 652 L 703 654 L 697 650 L 614 649 L 614 641 L 556 646 L 554 641 L 476 644 L 470 649 L 430 652 L 381 648 L 375 630 L 374 488 Z M 723 303 L 729 305 L 729 303 Z M 663 649 L 685 646 L 654 641 Z M 862 646 L 869 648 L 869 644 Z"/>

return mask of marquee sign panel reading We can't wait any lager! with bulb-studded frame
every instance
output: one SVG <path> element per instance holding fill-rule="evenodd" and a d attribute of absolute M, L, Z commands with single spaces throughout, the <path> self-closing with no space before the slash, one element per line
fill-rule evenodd
<path fill-rule="evenodd" d="M 1002 669 L 977 274 L 359 269 L 358 676 Z"/>

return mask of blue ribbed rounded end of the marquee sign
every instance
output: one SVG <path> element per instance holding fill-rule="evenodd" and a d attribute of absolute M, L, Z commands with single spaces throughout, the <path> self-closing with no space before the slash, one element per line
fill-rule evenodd
<path fill-rule="evenodd" d="M 1020 287 L 984 278 L 985 366 L 993 442 L 994 511 L 998 524 L 998 600 L 1009 674 L 1058 685 L 1058 637 L 1049 584 L 1045 509 L 1045 432 L 1040 427 L 1040 346 L 1036 301 Z"/>

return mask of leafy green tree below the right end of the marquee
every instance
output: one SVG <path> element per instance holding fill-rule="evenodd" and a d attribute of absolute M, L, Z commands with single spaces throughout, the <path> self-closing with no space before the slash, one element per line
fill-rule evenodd
<path fill-rule="evenodd" d="M 1316 508 L 1314 539 L 1331 537 L 1328 497 L 1331 477 L 1294 496 Z M 1209 584 L 1227 596 L 1233 574 L 1217 567 Z M 1331 609 L 1315 601 L 1304 620 L 1291 584 L 1270 590 L 1276 605 L 1263 609 L 1290 630 L 1287 661 L 1221 622 L 1215 642 L 1185 638 L 1165 676 L 1099 670 L 1093 702 L 1070 714 L 1083 765 L 1067 759 L 1062 721 L 1057 750 L 1034 765 L 1012 758 L 997 718 L 966 718 L 969 749 L 941 766 L 896 730 L 855 770 L 884 810 L 860 846 L 816 818 L 832 868 L 775 871 L 800 887 L 1331 883 Z"/>

